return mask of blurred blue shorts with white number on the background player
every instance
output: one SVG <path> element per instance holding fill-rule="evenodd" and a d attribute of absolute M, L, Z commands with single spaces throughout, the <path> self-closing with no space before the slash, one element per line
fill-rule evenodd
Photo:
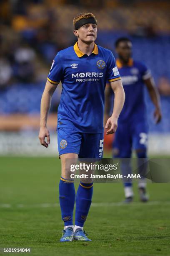
<path fill-rule="evenodd" d="M 146 122 L 121 123 L 113 141 L 114 157 L 130 158 L 132 150 L 145 149 L 148 144 L 148 124 Z"/>

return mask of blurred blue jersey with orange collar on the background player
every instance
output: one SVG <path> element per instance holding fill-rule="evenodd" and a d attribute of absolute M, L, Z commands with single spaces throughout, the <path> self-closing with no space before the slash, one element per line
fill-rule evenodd
<path fill-rule="evenodd" d="M 127 66 L 122 67 L 118 59 L 116 64 L 125 90 L 125 104 L 119 122 L 145 120 L 144 80 L 151 76 L 150 71 L 145 64 L 133 59 L 130 59 Z"/>

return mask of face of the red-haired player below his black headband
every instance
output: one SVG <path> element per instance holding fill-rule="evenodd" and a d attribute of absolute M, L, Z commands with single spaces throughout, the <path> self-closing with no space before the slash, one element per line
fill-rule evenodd
<path fill-rule="evenodd" d="M 81 41 L 92 43 L 97 37 L 97 26 L 95 24 L 85 24 L 78 30 L 74 31 L 75 36 L 78 36 Z"/>

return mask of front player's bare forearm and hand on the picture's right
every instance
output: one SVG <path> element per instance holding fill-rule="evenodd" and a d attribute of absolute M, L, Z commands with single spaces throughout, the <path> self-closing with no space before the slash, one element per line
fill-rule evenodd
<path fill-rule="evenodd" d="M 121 80 L 110 82 L 110 86 L 115 94 L 115 100 L 112 116 L 108 118 L 105 126 L 106 129 L 109 129 L 106 134 L 115 133 L 117 130 L 117 120 L 125 102 L 125 91 Z"/>

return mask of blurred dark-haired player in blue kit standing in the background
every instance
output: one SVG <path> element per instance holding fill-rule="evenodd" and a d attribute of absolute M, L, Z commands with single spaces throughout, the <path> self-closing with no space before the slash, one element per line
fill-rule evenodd
<path fill-rule="evenodd" d="M 135 150 L 138 158 L 138 170 L 142 174 L 138 183 L 140 200 L 146 202 L 148 196 L 146 194 L 146 180 L 143 176 L 145 176 L 147 168 L 148 123 L 144 87 L 147 87 L 150 98 L 155 105 L 156 123 L 161 120 L 160 98 L 148 68 L 142 62 L 132 59 L 132 42 L 128 38 L 119 38 L 115 42 L 115 48 L 118 55 L 116 64 L 125 90 L 125 104 L 120 113 L 118 128 L 113 141 L 113 156 L 130 159 L 132 150 Z M 106 113 L 110 109 L 110 93 L 112 95 L 110 87 L 107 86 Z M 130 160 L 128 159 L 124 162 L 125 164 L 122 163 L 122 173 L 125 176 L 131 173 Z M 124 183 L 124 190 L 125 202 L 132 202 L 133 187 L 131 181 Z"/>

